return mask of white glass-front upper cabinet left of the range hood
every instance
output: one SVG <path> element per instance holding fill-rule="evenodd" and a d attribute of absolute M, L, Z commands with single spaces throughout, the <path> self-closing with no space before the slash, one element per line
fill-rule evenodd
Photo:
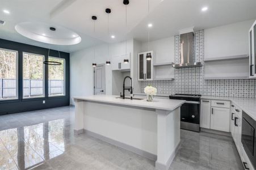
<path fill-rule="evenodd" d="M 146 59 L 147 53 L 152 59 Z M 153 80 L 153 58 L 153 51 L 138 53 L 138 80 Z"/>

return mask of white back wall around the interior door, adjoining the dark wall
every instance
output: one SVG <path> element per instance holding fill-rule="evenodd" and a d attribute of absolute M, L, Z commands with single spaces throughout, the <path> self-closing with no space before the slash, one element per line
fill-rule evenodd
<path fill-rule="evenodd" d="M 74 96 L 90 96 L 94 94 L 93 47 L 79 50 L 70 54 L 70 104 L 74 104 Z M 133 40 L 127 40 L 127 53 L 131 52 L 133 57 Z M 125 54 L 125 42 L 110 44 L 109 56 L 107 55 L 107 44 L 95 46 L 95 62 L 106 63 L 112 56 Z M 115 80 L 117 81 L 117 80 Z M 106 94 L 112 94 L 112 70 L 111 65 L 106 65 Z M 121 80 L 123 81 L 123 80 Z"/>

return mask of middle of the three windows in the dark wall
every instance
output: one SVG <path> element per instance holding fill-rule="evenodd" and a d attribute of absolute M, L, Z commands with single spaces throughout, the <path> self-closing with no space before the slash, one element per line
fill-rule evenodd
<path fill-rule="evenodd" d="M 23 53 L 23 99 L 44 97 L 44 56 Z"/>

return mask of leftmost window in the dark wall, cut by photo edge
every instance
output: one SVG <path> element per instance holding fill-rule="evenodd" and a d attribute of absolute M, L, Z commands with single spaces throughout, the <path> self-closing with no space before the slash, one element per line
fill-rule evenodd
<path fill-rule="evenodd" d="M 0 100 L 18 99 L 18 52 L 0 49 Z"/>

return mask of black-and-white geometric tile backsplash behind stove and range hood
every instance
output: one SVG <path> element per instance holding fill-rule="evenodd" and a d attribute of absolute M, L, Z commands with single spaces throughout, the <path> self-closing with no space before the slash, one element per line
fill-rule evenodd
<path fill-rule="evenodd" d="M 179 63 L 179 35 L 174 37 L 175 63 Z M 174 80 L 142 81 L 141 92 L 148 85 L 157 88 L 158 94 L 200 94 L 204 96 L 256 97 L 256 80 L 204 80 L 204 30 L 195 32 L 194 56 L 202 67 L 175 69 Z"/>

